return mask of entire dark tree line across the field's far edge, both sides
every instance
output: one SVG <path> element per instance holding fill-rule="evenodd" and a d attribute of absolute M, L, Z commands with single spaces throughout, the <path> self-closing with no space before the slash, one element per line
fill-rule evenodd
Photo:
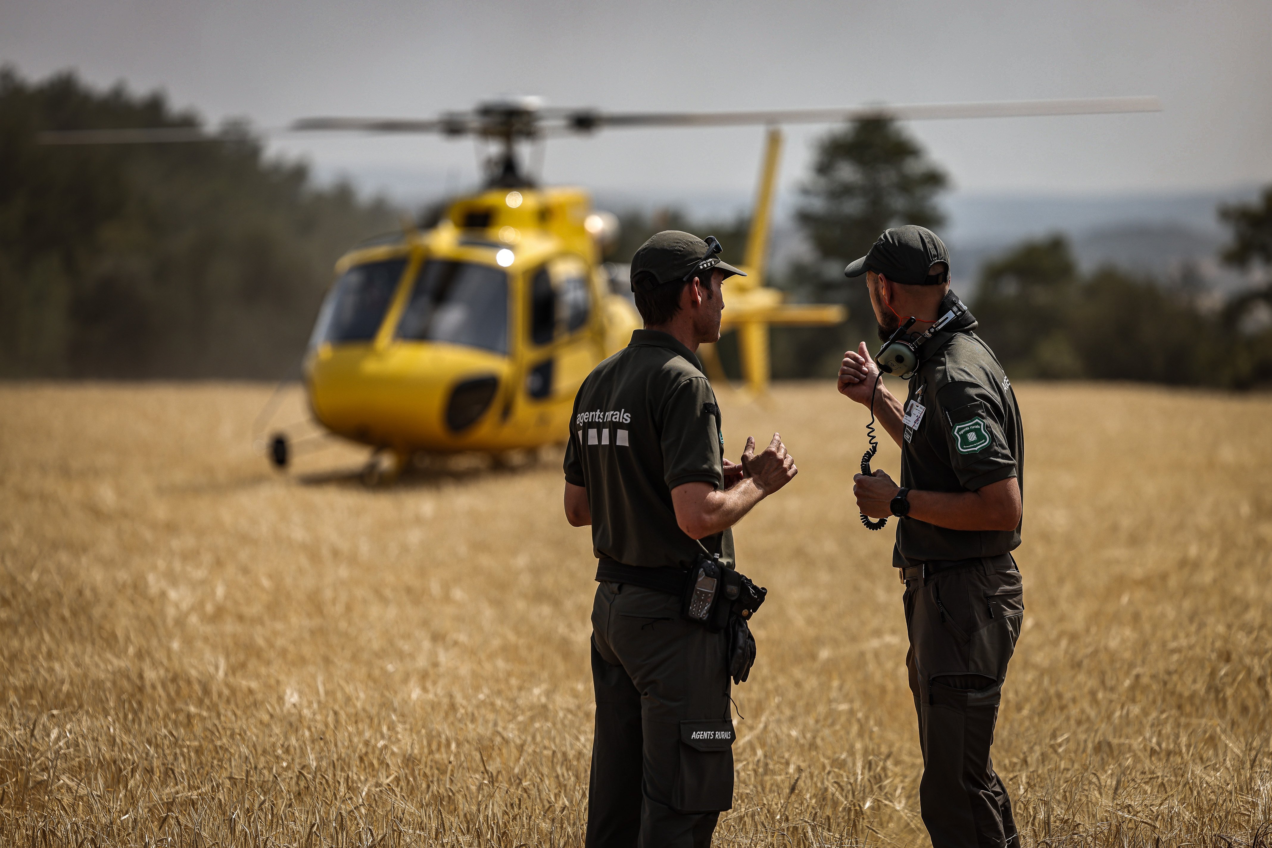
<path fill-rule="evenodd" d="M 163 95 L 98 92 L 61 74 L 0 69 L 0 376 L 280 378 L 294 371 L 351 245 L 399 226 L 399 211 L 296 163 L 233 142 L 45 146 L 42 130 L 198 127 Z M 901 126 L 866 120 L 818 142 L 798 222 L 812 256 L 776 276 L 792 301 L 841 303 L 838 327 L 775 328 L 773 375 L 831 376 L 875 338 L 843 266 L 884 229 L 940 231 L 944 170 Z M 1084 273 L 1063 236 L 986 263 L 969 304 L 1014 378 L 1124 379 L 1249 388 L 1272 383 L 1272 188 L 1219 211 L 1222 261 L 1257 285 L 1216 303 L 1119 268 Z M 715 234 L 730 257 L 748 221 L 627 215 L 611 258 L 659 229 Z M 954 270 L 955 280 L 959 270 Z M 726 367 L 736 348 L 721 343 Z"/>

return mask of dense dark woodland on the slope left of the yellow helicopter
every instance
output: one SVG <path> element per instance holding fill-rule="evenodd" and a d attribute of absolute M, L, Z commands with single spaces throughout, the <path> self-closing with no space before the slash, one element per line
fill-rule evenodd
<path fill-rule="evenodd" d="M 47 146 L 196 127 L 163 95 L 0 69 L 0 376 L 281 378 L 351 244 L 397 212 L 259 142 Z"/>

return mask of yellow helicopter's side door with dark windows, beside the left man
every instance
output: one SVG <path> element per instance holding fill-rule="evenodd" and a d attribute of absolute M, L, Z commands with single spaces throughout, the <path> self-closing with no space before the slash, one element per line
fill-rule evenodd
<path fill-rule="evenodd" d="M 533 400 L 572 403 L 599 360 L 588 275 L 588 263 L 575 256 L 550 259 L 530 275 L 525 393 Z"/>

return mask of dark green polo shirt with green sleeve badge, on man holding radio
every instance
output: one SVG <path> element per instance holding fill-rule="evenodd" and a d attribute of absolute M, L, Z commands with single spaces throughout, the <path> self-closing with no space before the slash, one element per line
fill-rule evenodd
<path fill-rule="evenodd" d="M 939 333 L 921 350 L 906 398 L 901 486 L 974 492 L 1015 477 L 1024 497 L 1020 408 L 993 351 L 973 332 L 976 325 L 967 313 L 950 327 L 958 332 Z M 897 523 L 893 564 L 993 557 L 1019 544 L 1019 524 L 1014 530 L 950 530 L 903 517 Z"/>

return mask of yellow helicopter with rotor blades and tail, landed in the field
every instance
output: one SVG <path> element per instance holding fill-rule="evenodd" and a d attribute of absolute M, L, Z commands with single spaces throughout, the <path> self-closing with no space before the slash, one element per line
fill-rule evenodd
<path fill-rule="evenodd" d="M 838 305 L 785 304 L 764 285 L 768 224 L 785 123 L 848 120 L 1019 117 L 1158 111 L 1156 98 L 1095 98 L 862 106 L 761 112 L 607 113 L 544 108 L 505 98 L 435 120 L 304 118 L 289 131 L 439 133 L 497 145 L 480 193 L 450 203 L 427 231 L 413 228 L 346 253 L 319 310 L 304 357 L 314 418 L 365 444 L 391 473 L 413 455 L 500 454 L 562 442 L 574 395 L 588 373 L 623 347 L 640 318 L 621 272 L 602 264 L 617 219 L 591 209 L 579 188 L 538 187 L 520 170 L 516 145 L 618 127 L 767 126 L 759 187 L 743 268 L 729 281 L 724 331 L 739 333 L 747 392 L 770 376 L 768 327 L 843 320 Z M 242 133 L 230 128 L 225 135 Z M 197 128 L 43 133 L 48 144 L 207 141 Z M 724 376 L 711 346 L 703 359 Z M 277 394 L 276 394 L 277 397 Z M 262 411 L 272 416 L 275 399 Z M 286 431 L 261 440 L 271 463 L 293 455 Z"/>

